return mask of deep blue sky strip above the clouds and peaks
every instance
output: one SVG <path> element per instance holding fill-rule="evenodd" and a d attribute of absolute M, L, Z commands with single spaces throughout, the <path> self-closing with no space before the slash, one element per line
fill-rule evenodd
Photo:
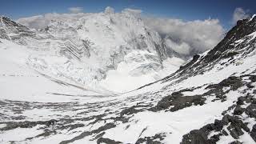
<path fill-rule="evenodd" d="M 46 13 L 69 13 L 70 7 L 82 7 L 83 12 L 100 12 L 106 6 L 116 11 L 140 9 L 142 14 L 156 17 L 180 18 L 186 21 L 218 18 L 230 27 L 235 8 L 256 13 L 255 0 L 0 0 L 0 14 L 13 19 Z"/>

